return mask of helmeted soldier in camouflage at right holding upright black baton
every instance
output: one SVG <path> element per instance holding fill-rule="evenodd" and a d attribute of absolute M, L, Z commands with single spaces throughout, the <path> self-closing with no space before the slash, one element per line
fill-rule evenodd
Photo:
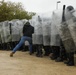
<path fill-rule="evenodd" d="M 73 38 L 71 36 L 70 30 L 68 28 L 67 21 L 72 18 L 71 11 L 74 8 L 72 6 L 68 6 L 65 9 L 65 5 L 63 6 L 63 13 L 62 13 L 62 22 L 61 25 L 57 25 L 59 27 L 59 34 L 61 36 L 62 44 L 61 50 L 60 50 L 60 57 L 62 58 L 62 51 L 66 50 L 67 53 L 67 62 L 65 62 L 68 66 L 74 65 L 74 50 L 75 50 L 75 44 L 73 41 Z M 65 49 L 63 48 L 65 47 Z M 62 49 L 63 48 L 63 49 Z M 66 56 L 66 55 L 64 55 Z M 57 60 L 61 61 L 61 60 Z"/>

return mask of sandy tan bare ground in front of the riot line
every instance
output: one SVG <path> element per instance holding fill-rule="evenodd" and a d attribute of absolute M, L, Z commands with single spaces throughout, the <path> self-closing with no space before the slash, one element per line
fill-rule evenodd
<path fill-rule="evenodd" d="M 38 58 L 28 52 L 0 51 L 0 75 L 76 75 L 76 66 L 66 66 L 49 57 Z"/>

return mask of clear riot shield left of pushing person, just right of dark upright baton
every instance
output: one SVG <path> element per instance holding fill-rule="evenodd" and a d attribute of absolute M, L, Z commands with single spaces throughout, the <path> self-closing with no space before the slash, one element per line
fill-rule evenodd
<path fill-rule="evenodd" d="M 20 40 L 20 31 L 18 26 L 17 20 L 12 21 L 12 42 Z"/>

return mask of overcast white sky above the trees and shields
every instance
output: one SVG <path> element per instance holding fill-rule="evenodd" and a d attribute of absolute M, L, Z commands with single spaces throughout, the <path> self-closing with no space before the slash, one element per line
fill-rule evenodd
<path fill-rule="evenodd" d="M 21 2 L 24 8 L 29 12 L 36 13 L 45 13 L 50 12 L 56 9 L 57 1 L 61 1 L 58 3 L 58 9 L 62 8 L 65 5 L 72 5 L 76 8 L 76 0 L 5 0 L 12 2 Z"/>

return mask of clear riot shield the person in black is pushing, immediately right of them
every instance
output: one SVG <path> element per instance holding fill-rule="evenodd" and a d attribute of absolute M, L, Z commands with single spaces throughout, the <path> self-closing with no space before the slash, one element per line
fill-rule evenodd
<path fill-rule="evenodd" d="M 42 20 L 40 16 L 35 15 L 32 18 L 32 25 L 34 26 L 34 40 L 36 44 L 43 44 L 43 35 L 42 35 Z"/>

